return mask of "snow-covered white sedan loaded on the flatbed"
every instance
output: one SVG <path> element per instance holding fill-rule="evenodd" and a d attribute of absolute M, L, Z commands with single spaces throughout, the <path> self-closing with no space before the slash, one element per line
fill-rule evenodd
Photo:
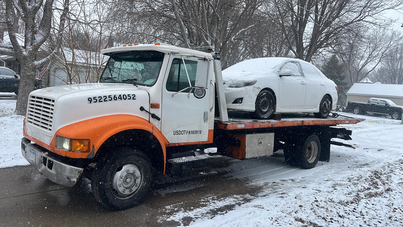
<path fill-rule="evenodd" d="M 337 86 L 311 63 L 266 57 L 242 61 L 222 71 L 227 108 L 253 118 L 273 113 L 314 113 L 326 118 L 336 109 Z"/>

